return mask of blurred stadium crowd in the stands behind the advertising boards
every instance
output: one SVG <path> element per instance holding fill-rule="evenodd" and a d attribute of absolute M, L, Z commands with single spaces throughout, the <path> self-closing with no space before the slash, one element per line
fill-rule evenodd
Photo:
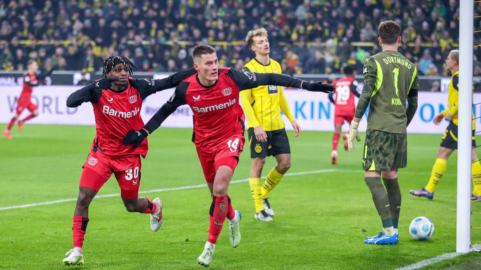
<path fill-rule="evenodd" d="M 285 73 L 362 71 L 379 52 L 377 25 L 402 27 L 399 51 L 420 74 L 448 75 L 447 53 L 457 46 L 457 0 L 0 0 L 0 65 L 25 70 L 28 59 L 56 70 L 97 71 L 111 54 L 139 71 L 192 66 L 197 43 L 218 51 L 221 66 L 240 69 L 254 54 L 250 29 L 269 32 L 271 57 Z M 475 5 L 475 14 L 481 5 Z M 481 28 L 474 23 L 474 28 Z M 474 36 L 474 43 L 481 39 Z M 474 56 L 481 58 L 475 47 Z"/>

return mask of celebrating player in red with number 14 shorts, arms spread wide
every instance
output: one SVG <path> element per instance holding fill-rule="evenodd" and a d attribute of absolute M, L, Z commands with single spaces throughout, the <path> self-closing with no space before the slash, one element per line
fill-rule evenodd
<path fill-rule="evenodd" d="M 230 178 L 240 152 L 244 148 L 244 111 L 238 102 L 239 91 L 260 85 L 281 85 L 310 91 L 330 92 L 334 87 L 321 82 L 307 82 L 276 73 L 255 73 L 233 68 L 219 68 L 213 47 L 201 44 L 192 52 L 194 68 L 198 71 L 182 80 L 174 94 L 140 130 L 131 130 L 124 145 L 142 145 L 175 109 L 188 104 L 193 112 L 192 141 L 212 196 L 209 211 L 209 234 L 197 263 L 208 267 L 222 224 L 229 220 L 229 241 L 232 247 L 240 242 L 240 211 L 232 208 L 227 195 Z"/>

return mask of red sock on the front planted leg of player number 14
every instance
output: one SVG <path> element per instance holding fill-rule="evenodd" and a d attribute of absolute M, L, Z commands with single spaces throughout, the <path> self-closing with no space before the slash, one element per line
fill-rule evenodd
<path fill-rule="evenodd" d="M 222 230 L 222 224 L 227 216 L 227 212 L 230 211 L 233 213 L 232 206 L 229 207 L 229 198 L 227 195 L 221 197 L 214 197 L 212 200 L 212 204 L 210 205 L 209 211 L 209 236 L 207 237 L 207 241 L 210 243 L 216 243 L 217 238 L 219 237 L 219 233 Z"/>

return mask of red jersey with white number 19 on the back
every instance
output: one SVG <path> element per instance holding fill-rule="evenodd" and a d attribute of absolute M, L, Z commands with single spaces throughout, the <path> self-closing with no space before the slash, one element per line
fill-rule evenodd
<path fill-rule="evenodd" d="M 357 81 L 353 77 L 340 78 L 333 82 L 334 104 L 336 105 L 334 115 L 351 115 L 356 111 L 354 104 L 354 91 L 357 88 Z"/>

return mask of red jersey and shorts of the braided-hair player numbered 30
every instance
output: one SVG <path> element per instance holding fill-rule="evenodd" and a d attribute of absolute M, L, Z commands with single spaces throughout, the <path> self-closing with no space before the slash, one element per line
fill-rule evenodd
<path fill-rule="evenodd" d="M 92 177 L 91 172 L 83 170 L 80 186 L 98 191 L 114 173 L 122 197 L 136 198 L 140 185 L 140 155 L 145 158 L 148 142 L 144 140 L 138 147 L 132 148 L 122 144 L 123 136 L 129 130 L 140 129 L 144 125 L 140 116 L 143 99 L 157 91 L 177 86 L 182 79 L 195 72 L 191 68 L 155 80 L 129 77 L 127 87 L 119 92 L 111 89 L 92 90 L 91 86 L 86 86 L 72 93 L 67 99 L 67 106 L 76 107 L 83 102 L 91 102 L 96 125 L 91 151 L 82 167 L 90 168 L 99 176 Z"/>

